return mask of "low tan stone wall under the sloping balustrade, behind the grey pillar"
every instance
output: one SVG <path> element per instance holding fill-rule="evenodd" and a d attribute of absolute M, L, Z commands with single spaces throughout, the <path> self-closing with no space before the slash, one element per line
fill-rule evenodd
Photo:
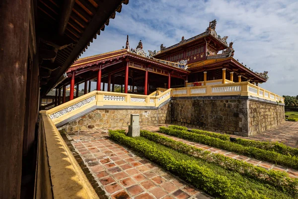
<path fill-rule="evenodd" d="M 68 122 L 62 127 L 67 132 L 89 130 L 94 128 L 127 127 L 130 125 L 130 115 L 140 114 L 140 125 L 170 123 L 169 103 L 157 109 L 96 109 L 92 112 Z"/>

